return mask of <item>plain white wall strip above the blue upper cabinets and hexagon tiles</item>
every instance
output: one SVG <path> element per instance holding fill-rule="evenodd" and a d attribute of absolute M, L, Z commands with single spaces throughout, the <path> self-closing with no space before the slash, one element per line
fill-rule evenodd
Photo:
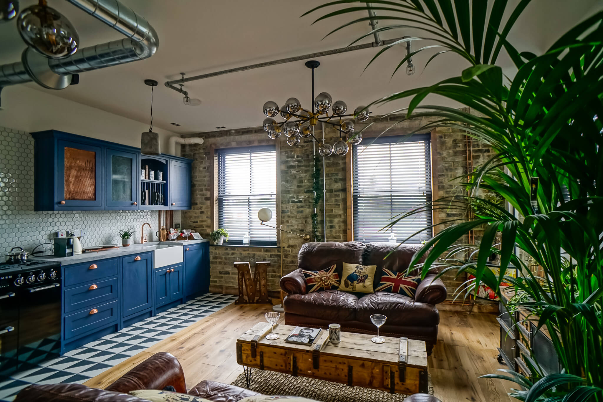
<path fill-rule="evenodd" d="M 31 85 L 35 84 L 13 85 L 2 90 L 0 126 L 27 133 L 54 129 L 136 147 L 140 147 L 140 134 L 148 131 L 147 123 L 69 101 Z M 178 135 L 158 127 L 153 131 L 159 133 L 162 152 L 168 151 L 168 138 Z"/>

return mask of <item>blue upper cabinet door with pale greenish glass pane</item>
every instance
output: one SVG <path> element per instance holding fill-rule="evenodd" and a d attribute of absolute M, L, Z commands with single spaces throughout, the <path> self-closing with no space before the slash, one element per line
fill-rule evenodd
<path fill-rule="evenodd" d="M 107 148 L 105 209 L 138 209 L 138 156 L 133 152 Z M 138 175 L 136 175 L 138 173 Z"/>

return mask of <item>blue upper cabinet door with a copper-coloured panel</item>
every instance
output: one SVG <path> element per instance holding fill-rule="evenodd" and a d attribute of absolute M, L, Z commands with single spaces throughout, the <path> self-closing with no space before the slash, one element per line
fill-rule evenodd
<path fill-rule="evenodd" d="M 58 141 L 57 210 L 98 209 L 103 206 L 101 191 L 103 149 L 77 142 Z"/>

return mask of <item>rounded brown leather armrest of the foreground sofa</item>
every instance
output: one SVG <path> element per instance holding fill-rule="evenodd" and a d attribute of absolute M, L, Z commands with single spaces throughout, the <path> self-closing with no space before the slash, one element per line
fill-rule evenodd
<path fill-rule="evenodd" d="M 163 389 L 171 385 L 186 394 L 185 372 L 178 359 L 167 352 L 156 353 L 118 378 L 107 391 L 124 392 L 134 389 Z"/>

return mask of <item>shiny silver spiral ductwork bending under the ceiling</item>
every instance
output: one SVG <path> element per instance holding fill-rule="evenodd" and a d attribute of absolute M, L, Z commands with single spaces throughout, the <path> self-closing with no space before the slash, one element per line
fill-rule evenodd
<path fill-rule="evenodd" d="M 54 60 L 25 49 L 21 62 L 0 66 L 0 87 L 35 81 L 48 89 L 63 89 L 74 74 L 144 60 L 157 51 L 159 38 L 153 27 L 119 1 L 67 1 L 126 38 L 88 46 L 67 58 Z"/>

